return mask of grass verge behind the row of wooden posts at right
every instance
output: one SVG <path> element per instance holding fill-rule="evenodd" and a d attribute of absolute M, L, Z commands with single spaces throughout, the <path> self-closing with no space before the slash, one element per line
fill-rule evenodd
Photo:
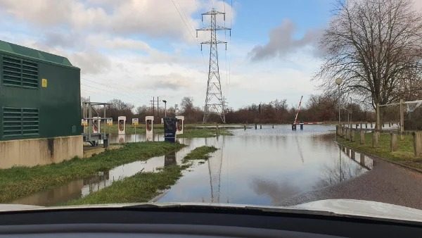
<path fill-rule="evenodd" d="M 413 168 L 422 169 L 422 158 L 414 156 L 413 137 L 411 135 L 404 135 L 404 140 L 400 140 L 397 135 L 397 151 L 390 152 L 390 134 L 381 133 L 378 138 L 378 147 L 372 147 L 372 134 L 365 134 L 365 144 L 360 144 L 360 135 L 355 135 L 356 142 L 350 142 L 343 138 L 338 138 L 338 143 L 345 146 L 350 146 L 358 151 L 372 154 L 388 161 L 394 161 L 403 165 L 408 165 Z"/>

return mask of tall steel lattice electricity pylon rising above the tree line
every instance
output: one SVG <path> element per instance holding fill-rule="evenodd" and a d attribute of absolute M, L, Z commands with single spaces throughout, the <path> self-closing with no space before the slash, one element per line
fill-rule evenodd
<path fill-rule="evenodd" d="M 202 18 L 204 15 L 210 15 L 211 25 L 196 30 L 196 37 L 198 37 L 198 31 L 209 31 L 211 33 L 211 39 L 209 41 L 200 43 L 201 50 L 203 44 L 210 44 L 210 68 L 208 70 L 207 96 L 205 98 L 203 123 L 207 122 L 211 114 L 219 115 L 219 117 L 222 118 L 223 123 L 226 123 L 226 105 L 222 95 L 222 84 L 219 77 L 217 44 L 226 44 L 227 48 L 227 42 L 217 40 L 217 30 L 231 29 L 217 25 L 216 18 L 219 14 L 222 14 L 224 16 L 224 20 L 226 20 L 226 13 L 215 11 L 214 8 L 212 8 L 211 11 L 202 13 Z"/>

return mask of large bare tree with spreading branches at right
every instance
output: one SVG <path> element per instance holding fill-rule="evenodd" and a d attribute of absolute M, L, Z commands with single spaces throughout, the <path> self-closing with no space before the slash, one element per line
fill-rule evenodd
<path fill-rule="evenodd" d="M 373 108 L 420 90 L 422 17 L 411 0 L 338 1 L 320 39 L 326 51 L 314 80 L 330 94 L 343 78 L 345 95 Z"/>

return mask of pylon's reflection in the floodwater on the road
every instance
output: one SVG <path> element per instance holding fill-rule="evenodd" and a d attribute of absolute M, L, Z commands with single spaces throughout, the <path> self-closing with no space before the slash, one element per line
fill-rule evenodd
<path fill-rule="evenodd" d="M 207 140 L 205 139 L 207 145 Z M 215 144 L 214 146 L 217 147 Z M 211 189 L 211 202 L 219 203 L 221 180 L 222 180 L 222 165 L 223 165 L 223 148 L 219 146 L 212 158 L 208 160 L 208 172 L 210 173 L 210 189 Z"/>

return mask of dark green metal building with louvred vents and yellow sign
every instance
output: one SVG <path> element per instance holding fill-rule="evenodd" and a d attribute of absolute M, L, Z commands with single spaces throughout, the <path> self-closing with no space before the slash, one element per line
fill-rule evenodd
<path fill-rule="evenodd" d="M 68 58 L 0 41 L 0 141 L 82 133 L 80 69 Z"/>

